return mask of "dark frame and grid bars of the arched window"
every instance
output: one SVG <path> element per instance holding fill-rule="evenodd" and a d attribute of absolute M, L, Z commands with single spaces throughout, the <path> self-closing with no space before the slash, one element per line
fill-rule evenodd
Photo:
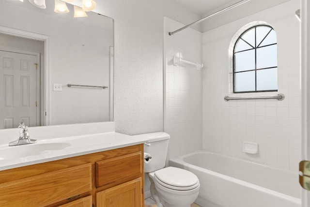
<path fill-rule="evenodd" d="M 278 89 L 271 89 L 271 90 L 257 90 L 257 71 L 259 70 L 267 70 L 267 69 L 272 69 L 272 68 L 277 68 L 277 71 L 278 71 L 278 63 L 277 63 L 277 66 L 274 66 L 274 67 L 267 67 L 267 68 L 260 68 L 260 69 L 257 69 L 257 49 L 258 48 L 262 48 L 262 47 L 266 47 L 266 46 L 271 46 L 271 45 L 277 45 L 277 53 L 278 53 L 278 40 L 276 43 L 274 44 L 267 44 L 267 45 L 263 45 L 263 46 L 260 46 L 260 44 L 258 46 L 256 46 L 256 28 L 257 27 L 268 27 L 270 28 L 271 30 L 266 34 L 266 36 L 263 38 L 263 40 L 261 41 L 260 44 L 263 43 L 264 39 L 268 36 L 268 34 L 274 30 L 273 27 L 271 27 L 270 25 L 266 25 L 266 24 L 257 24 L 253 27 L 250 27 L 248 28 L 247 30 L 243 31 L 239 37 L 237 38 L 237 41 L 234 43 L 233 45 L 233 93 L 256 93 L 256 92 L 275 92 L 275 91 L 278 91 Z M 236 53 L 239 53 L 239 52 L 244 52 L 244 51 L 247 51 L 247 50 L 242 50 L 242 51 L 238 51 L 238 52 L 235 52 L 235 49 L 236 49 L 236 45 L 238 44 L 239 40 L 241 39 L 241 37 L 247 33 L 249 30 L 252 30 L 252 29 L 255 29 L 255 47 L 254 48 L 251 48 L 251 49 L 247 49 L 247 50 L 252 50 L 254 49 L 255 51 L 255 69 L 253 70 L 248 70 L 248 71 L 239 71 L 239 72 L 235 72 L 235 54 Z M 274 30 L 275 31 L 275 30 Z M 244 42 L 246 42 L 247 44 L 249 44 L 247 41 L 245 41 L 244 39 L 242 39 Z M 250 45 L 250 44 L 249 44 Z M 278 62 L 278 61 L 277 61 Z M 249 71 L 255 71 L 255 90 L 250 90 L 250 91 L 235 91 L 235 74 L 236 73 L 244 73 L 244 72 L 249 72 Z"/>

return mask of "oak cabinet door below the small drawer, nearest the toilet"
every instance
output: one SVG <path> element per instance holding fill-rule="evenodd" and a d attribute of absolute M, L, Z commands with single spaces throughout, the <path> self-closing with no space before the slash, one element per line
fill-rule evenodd
<path fill-rule="evenodd" d="M 97 192 L 97 207 L 142 207 L 141 178 Z"/>

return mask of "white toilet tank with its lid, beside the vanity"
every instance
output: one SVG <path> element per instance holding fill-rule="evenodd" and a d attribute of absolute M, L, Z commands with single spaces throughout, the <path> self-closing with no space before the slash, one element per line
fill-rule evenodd
<path fill-rule="evenodd" d="M 170 135 L 164 132 L 144 133 L 135 136 L 144 136 L 148 142 L 144 144 L 144 153 L 152 157 L 149 163 L 144 163 L 144 172 L 149 173 L 164 168 L 168 152 Z"/>

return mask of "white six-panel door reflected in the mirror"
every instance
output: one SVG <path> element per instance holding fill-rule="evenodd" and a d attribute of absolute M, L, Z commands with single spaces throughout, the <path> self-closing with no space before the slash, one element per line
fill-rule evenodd
<path fill-rule="evenodd" d="M 0 50 L 0 129 L 36 126 L 36 58 Z"/>

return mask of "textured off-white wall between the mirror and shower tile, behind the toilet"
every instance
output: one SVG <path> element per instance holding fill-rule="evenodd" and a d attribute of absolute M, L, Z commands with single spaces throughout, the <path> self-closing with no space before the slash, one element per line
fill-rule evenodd
<path fill-rule="evenodd" d="M 96 11 L 114 18 L 116 131 L 163 131 L 163 16 L 184 24 L 201 16 L 173 0 L 102 0 Z"/>

